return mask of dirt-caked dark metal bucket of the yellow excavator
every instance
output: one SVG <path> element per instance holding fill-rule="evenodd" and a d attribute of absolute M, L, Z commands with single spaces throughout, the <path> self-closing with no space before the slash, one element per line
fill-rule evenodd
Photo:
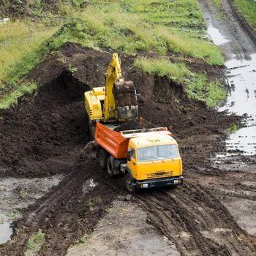
<path fill-rule="evenodd" d="M 114 83 L 113 95 L 118 108 L 118 118 L 138 118 L 138 99 L 132 81 Z"/>

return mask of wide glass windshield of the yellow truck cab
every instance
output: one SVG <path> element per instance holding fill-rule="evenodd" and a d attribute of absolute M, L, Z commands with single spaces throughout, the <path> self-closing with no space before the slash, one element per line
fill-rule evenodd
<path fill-rule="evenodd" d="M 138 162 L 177 158 L 177 145 L 151 146 L 138 149 Z"/>

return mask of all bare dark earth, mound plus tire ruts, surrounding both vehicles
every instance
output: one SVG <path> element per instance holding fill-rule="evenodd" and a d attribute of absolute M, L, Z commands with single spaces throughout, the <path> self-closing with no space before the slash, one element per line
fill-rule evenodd
<path fill-rule="evenodd" d="M 45 233 L 39 255 L 65 255 L 77 238 L 92 232 L 118 195 L 127 194 L 123 179 L 109 178 L 94 151 L 83 150 L 90 138 L 83 92 L 104 85 L 110 59 L 110 53 L 68 43 L 29 73 L 29 79 L 40 85 L 37 93 L 1 110 L 0 176 L 64 178 L 12 223 L 12 239 L 0 245 L 0 255 L 23 255 L 29 237 L 39 228 Z M 242 230 L 221 203 L 227 196 L 223 189 L 243 189 L 240 181 L 245 174 L 212 167 L 208 160 L 214 152 L 225 151 L 223 130 L 241 118 L 208 110 L 187 99 L 180 85 L 146 75 L 132 68 L 132 62 L 133 57 L 122 56 L 124 78 L 132 80 L 141 94 L 140 116 L 170 127 L 180 148 L 186 148 L 181 154 L 184 185 L 140 192 L 135 195 L 138 203 L 181 255 L 255 255 L 255 237 Z M 207 70 L 211 77 L 219 73 L 200 62 L 197 69 Z M 255 164 L 256 159 L 250 157 L 249 162 Z M 246 176 L 256 181 L 253 173 Z M 86 184 L 91 179 L 97 186 L 90 190 Z M 251 195 L 238 191 L 236 196 Z M 92 198 L 101 200 L 91 207 Z"/>

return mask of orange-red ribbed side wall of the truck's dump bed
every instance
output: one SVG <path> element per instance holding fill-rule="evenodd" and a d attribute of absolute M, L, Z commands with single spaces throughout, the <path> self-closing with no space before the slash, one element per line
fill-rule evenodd
<path fill-rule="evenodd" d="M 113 157 L 127 158 L 129 138 L 124 138 L 120 132 L 113 131 L 97 122 L 95 140 L 99 146 L 105 148 Z"/>

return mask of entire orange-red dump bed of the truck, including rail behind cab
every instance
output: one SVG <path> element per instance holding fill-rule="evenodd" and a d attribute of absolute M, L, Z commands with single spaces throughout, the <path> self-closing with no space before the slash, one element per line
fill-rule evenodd
<path fill-rule="evenodd" d="M 152 135 L 154 133 L 159 134 L 159 132 L 161 134 L 172 135 L 171 132 L 169 132 L 165 127 L 158 127 L 153 129 L 134 129 L 116 132 L 104 124 L 97 122 L 95 140 L 99 146 L 105 148 L 105 150 L 113 155 L 113 157 L 127 158 L 129 139 L 147 135 L 148 132 L 150 132 Z"/>

